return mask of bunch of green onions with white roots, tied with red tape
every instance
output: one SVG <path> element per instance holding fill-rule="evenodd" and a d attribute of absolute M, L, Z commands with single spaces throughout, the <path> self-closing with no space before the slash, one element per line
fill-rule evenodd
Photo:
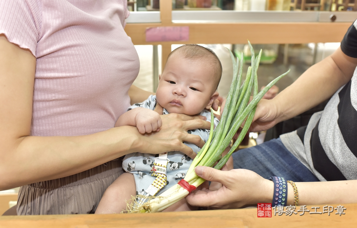
<path fill-rule="evenodd" d="M 238 145 L 246 135 L 248 128 L 250 127 L 257 103 L 261 100 L 264 94 L 283 76 L 290 72 L 290 69 L 270 82 L 261 92 L 258 93 L 258 81 L 257 81 L 257 69 L 260 62 L 262 50 L 260 50 L 258 56 L 255 56 L 254 50 L 250 42 L 248 41 L 250 50 L 252 53 L 251 66 L 248 67 L 247 76 L 245 81 L 241 84 L 242 80 L 242 68 L 243 68 L 243 54 L 241 55 L 240 64 L 237 62 L 230 51 L 230 55 L 233 62 L 233 80 L 227 96 L 226 104 L 221 116 L 221 120 L 217 127 L 213 130 L 213 121 L 211 121 L 210 136 L 206 144 L 198 152 L 195 159 L 192 161 L 190 168 L 188 169 L 184 180 L 190 185 L 195 187 L 201 185 L 206 180 L 198 177 L 195 173 L 196 166 L 209 166 L 214 164 L 215 169 L 221 169 L 226 164 L 229 157 L 237 149 Z M 250 96 L 253 89 L 253 99 L 251 102 Z M 249 102 L 249 103 L 248 103 Z M 213 112 L 211 110 L 211 120 L 213 120 Z M 222 157 L 222 152 L 230 145 L 233 136 L 238 131 L 238 128 L 245 121 L 243 129 L 241 130 L 238 139 L 235 141 L 230 151 Z M 146 212 L 160 212 L 172 204 L 178 202 L 182 198 L 188 195 L 188 190 L 182 188 L 176 184 L 171 188 L 161 193 L 158 197 L 152 197 L 145 203 L 137 203 L 135 200 L 132 202 L 128 212 L 131 213 L 146 213 Z M 140 196 L 142 197 L 142 196 Z"/>

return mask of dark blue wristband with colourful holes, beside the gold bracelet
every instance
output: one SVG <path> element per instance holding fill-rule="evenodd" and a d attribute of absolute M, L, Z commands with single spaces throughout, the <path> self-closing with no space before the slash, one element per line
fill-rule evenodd
<path fill-rule="evenodd" d="M 288 196 L 288 187 L 284 178 L 279 176 L 272 176 L 269 178 L 274 182 L 274 195 L 272 207 L 275 206 L 286 206 L 287 196 Z"/>

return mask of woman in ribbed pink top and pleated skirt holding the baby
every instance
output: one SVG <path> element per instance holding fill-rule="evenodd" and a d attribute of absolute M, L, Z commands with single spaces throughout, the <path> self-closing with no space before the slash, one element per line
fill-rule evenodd
<path fill-rule="evenodd" d="M 161 117 L 160 131 L 114 127 L 150 93 L 131 86 L 139 58 L 124 31 L 126 0 L 0 3 L 0 190 L 22 186 L 17 214 L 94 213 L 139 151 L 195 154 L 202 116 Z"/>

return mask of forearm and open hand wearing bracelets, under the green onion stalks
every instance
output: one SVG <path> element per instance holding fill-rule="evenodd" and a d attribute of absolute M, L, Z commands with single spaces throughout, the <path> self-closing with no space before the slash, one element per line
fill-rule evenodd
<path fill-rule="evenodd" d="M 229 171 L 197 166 L 195 172 L 208 181 L 222 183 L 222 188 L 210 191 L 203 188 L 186 197 L 189 204 L 212 209 L 256 206 L 273 201 L 274 183 L 246 169 Z M 295 182 L 299 205 L 357 203 L 357 180 Z M 294 191 L 288 186 L 287 205 L 294 205 Z"/>

